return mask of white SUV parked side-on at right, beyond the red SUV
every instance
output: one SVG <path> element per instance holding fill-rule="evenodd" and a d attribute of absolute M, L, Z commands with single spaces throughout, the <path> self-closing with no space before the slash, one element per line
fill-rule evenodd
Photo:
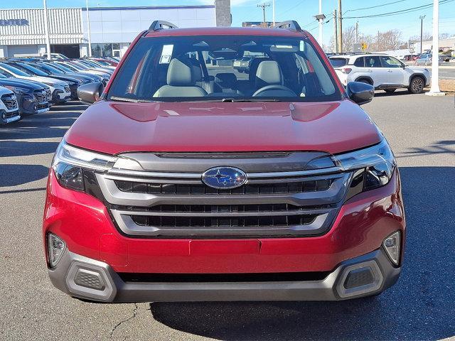
<path fill-rule="evenodd" d="M 429 70 L 407 66 L 390 55 L 333 55 L 329 60 L 343 85 L 364 82 L 385 92 L 407 88 L 412 94 L 419 94 L 431 80 Z"/>

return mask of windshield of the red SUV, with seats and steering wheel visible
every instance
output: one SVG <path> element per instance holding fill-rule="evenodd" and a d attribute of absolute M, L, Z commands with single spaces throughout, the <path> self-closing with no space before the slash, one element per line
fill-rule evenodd
<path fill-rule="evenodd" d="M 238 60 L 250 58 L 246 70 Z M 142 38 L 108 98 L 129 101 L 333 101 L 328 67 L 304 38 L 171 36 Z"/>

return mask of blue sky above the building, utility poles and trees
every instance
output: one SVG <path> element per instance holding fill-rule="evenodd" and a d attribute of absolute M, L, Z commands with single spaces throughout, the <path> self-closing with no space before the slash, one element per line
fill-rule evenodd
<path fill-rule="evenodd" d="M 331 13 L 338 7 L 338 0 L 321 0 L 323 13 L 328 20 Z M 439 33 L 455 36 L 455 0 L 442 0 L 447 4 L 439 5 Z M 213 4 L 213 0 L 89 0 L 95 6 L 164 6 Z M 372 14 L 390 13 L 417 6 L 432 4 L 432 0 L 343 0 L 343 28 L 355 25 L 358 21 L 359 32 L 375 35 L 378 31 L 396 28 L 402 31 L 402 40 L 420 34 L 419 16 L 425 16 L 424 32 L 432 32 L 432 6 L 417 9 L 410 13 L 399 13 L 394 16 L 380 18 L 348 18 L 351 16 L 368 16 Z M 257 5 L 272 4 L 272 0 L 231 0 L 232 26 L 241 26 L 243 21 L 262 21 L 262 9 Z M 42 0 L 0 0 L 0 9 L 42 8 Z M 48 0 L 48 7 L 82 7 L 85 0 Z M 375 6 L 373 9 L 365 7 Z M 318 28 L 314 15 L 319 12 L 319 0 L 275 0 L 276 21 L 296 20 L 304 29 L 318 38 Z M 267 21 L 272 21 L 272 6 L 266 8 Z M 323 26 L 323 42 L 328 45 L 333 36 L 333 21 Z"/>

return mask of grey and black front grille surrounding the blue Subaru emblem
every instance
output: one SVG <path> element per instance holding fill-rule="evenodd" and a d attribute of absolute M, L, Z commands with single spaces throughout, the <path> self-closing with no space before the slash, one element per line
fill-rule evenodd
<path fill-rule="evenodd" d="M 129 237 L 314 236 L 331 227 L 351 176 L 336 167 L 299 170 L 323 155 L 125 153 L 144 171 L 112 168 L 85 180 L 89 193 L 107 202 L 119 231 Z M 230 190 L 205 185 L 201 175 L 219 165 L 242 169 L 247 183 Z"/>

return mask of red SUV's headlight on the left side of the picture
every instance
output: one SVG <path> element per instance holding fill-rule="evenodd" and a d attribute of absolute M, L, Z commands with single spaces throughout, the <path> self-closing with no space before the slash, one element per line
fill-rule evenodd
<path fill-rule="evenodd" d="M 60 143 L 55 151 L 52 168 L 58 183 L 71 190 L 85 190 L 83 170 L 107 171 L 112 168 L 117 157 L 109 156 Z"/>

